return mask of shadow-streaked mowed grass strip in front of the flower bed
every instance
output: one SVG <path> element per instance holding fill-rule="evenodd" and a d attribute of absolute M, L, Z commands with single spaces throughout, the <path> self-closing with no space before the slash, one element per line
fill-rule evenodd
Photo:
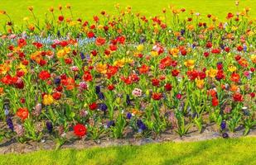
<path fill-rule="evenodd" d="M 256 138 L 38 151 L 0 155 L 0 164 L 256 164 Z"/>

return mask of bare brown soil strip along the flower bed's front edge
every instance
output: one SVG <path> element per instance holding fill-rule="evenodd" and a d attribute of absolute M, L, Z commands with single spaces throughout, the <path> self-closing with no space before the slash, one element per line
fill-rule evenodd
<path fill-rule="evenodd" d="M 238 129 L 235 133 L 230 133 L 229 138 L 238 138 L 243 136 L 243 129 Z M 62 145 L 60 148 L 75 148 L 75 149 L 83 149 L 83 148 L 92 148 L 92 147 L 109 147 L 109 146 L 120 146 L 120 145 L 143 145 L 143 144 L 152 144 L 152 143 L 162 143 L 171 141 L 174 143 L 180 142 L 195 142 L 202 141 L 208 139 L 219 139 L 222 138 L 219 131 L 216 130 L 215 125 L 207 125 L 207 127 L 203 130 L 202 133 L 196 131 L 196 127 L 192 127 L 190 129 L 189 134 L 180 137 L 175 132 L 171 130 L 167 130 L 162 133 L 155 139 L 152 138 L 138 138 L 133 135 L 126 134 L 126 138 L 123 139 L 108 139 L 102 138 L 98 141 L 88 140 L 88 139 L 74 139 L 73 132 L 68 132 L 66 134 L 67 137 L 70 137 L 69 141 Z M 256 129 L 251 130 L 249 137 L 256 137 Z M 72 138 L 73 137 L 73 138 Z M 0 154 L 5 153 L 30 153 L 38 150 L 52 150 L 55 149 L 56 143 L 49 139 L 49 137 L 45 137 L 41 139 L 40 142 L 27 142 L 21 144 L 17 142 L 15 139 L 10 139 L 3 141 L 0 144 Z"/>

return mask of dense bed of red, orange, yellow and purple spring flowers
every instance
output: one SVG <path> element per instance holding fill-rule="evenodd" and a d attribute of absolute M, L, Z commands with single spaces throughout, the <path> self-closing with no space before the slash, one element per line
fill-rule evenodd
<path fill-rule="evenodd" d="M 239 5 L 239 4 L 237 4 Z M 147 18 L 101 12 L 94 21 L 52 16 L 0 40 L 0 139 L 95 140 L 249 134 L 256 125 L 255 21 L 226 22 L 171 8 Z M 67 6 L 71 11 L 71 7 Z M 184 13 L 183 13 L 184 12 Z M 167 15 L 168 14 L 168 15 Z M 168 19 L 167 19 L 168 18 Z M 71 135 L 67 135 L 70 134 Z M 71 141 L 72 141 L 71 140 Z"/>

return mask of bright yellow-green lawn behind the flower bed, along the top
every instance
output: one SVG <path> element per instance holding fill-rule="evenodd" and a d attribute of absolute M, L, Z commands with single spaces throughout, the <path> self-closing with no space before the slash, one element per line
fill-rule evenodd
<path fill-rule="evenodd" d="M 27 10 L 27 7 L 33 6 L 36 17 L 41 21 L 45 19 L 45 14 L 51 17 L 49 12 L 49 7 L 55 7 L 56 16 L 60 15 L 60 11 L 57 7 L 61 4 L 64 8 L 67 3 L 70 3 L 75 18 L 82 18 L 83 20 L 92 20 L 92 17 L 99 15 L 99 12 L 106 11 L 109 14 L 118 14 L 118 11 L 114 7 L 116 3 L 120 4 L 121 8 L 131 6 L 133 12 L 140 12 L 146 16 L 163 16 L 162 8 L 167 8 L 169 10 L 170 4 L 174 5 L 176 8 L 180 9 L 182 7 L 186 8 L 186 14 L 181 14 L 181 17 L 189 16 L 189 12 L 194 10 L 195 12 L 200 12 L 203 19 L 206 21 L 207 14 L 213 14 L 218 16 L 219 20 L 225 21 L 225 16 L 228 12 L 235 13 L 237 11 L 234 0 L 0 0 L 0 10 L 6 11 L 17 26 L 21 26 L 23 18 L 29 16 L 33 21 L 31 13 Z M 256 0 L 240 0 L 239 10 L 244 7 L 250 7 L 250 16 L 256 18 Z M 70 12 L 64 9 L 66 17 L 70 16 Z M 167 12 L 167 16 L 170 15 L 170 10 Z M 0 15 L 0 25 L 7 21 L 6 16 Z"/>

